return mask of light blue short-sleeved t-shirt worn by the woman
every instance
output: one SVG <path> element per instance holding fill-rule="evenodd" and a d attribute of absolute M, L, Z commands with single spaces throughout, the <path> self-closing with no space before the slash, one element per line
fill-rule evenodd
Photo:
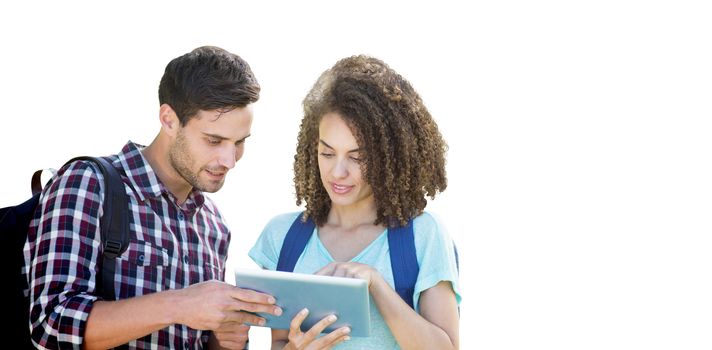
<path fill-rule="evenodd" d="M 275 270 L 279 260 L 282 242 L 300 213 L 282 214 L 274 217 L 265 226 L 255 245 L 250 249 L 250 258 L 264 269 Z M 368 264 L 375 268 L 393 288 L 393 272 L 388 250 L 388 231 L 371 242 L 351 262 Z M 415 250 L 420 272 L 415 283 L 413 303 L 418 311 L 420 293 L 434 287 L 440 281 L 450 281 L 460 303 L 458 271 L 455 263 L 453 242 L 437 220 L 429 213 L 423 213 L 413 220 Z M 331 254 L 322 244 L 317 229 L 314 229 L 304 252 L 294 266 L 294 272 L 312 274 L 334 262 Z M 336 349 L 400 349 L 388 325 L 383 320 L 376 304 L 371 299 L 371 336 L 351 337 L 351 340 L 337 345 Z"/>

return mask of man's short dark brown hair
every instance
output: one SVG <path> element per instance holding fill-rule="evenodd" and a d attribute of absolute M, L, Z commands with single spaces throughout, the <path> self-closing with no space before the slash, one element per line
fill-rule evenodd
<path fill-rule="evenodd" d="M 259 97 L 260 85 L 247 62 L 215 46 L 174 58 L 158 87 L 160 104 L 171 106 L 181 125 L 199 110 L 245 107 Z"/>

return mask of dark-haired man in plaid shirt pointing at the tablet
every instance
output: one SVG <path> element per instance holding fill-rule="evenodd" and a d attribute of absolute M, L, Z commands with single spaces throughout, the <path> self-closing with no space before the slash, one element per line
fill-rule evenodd
<path fill-rule="evenodd" d="M 168 64 L 158 135 L 147 147 L 129 141 L 107 157 L 131 211 L 130 243 L 116 260 L 116 301 L 96 291 L 100 178 L 84 161 L 60 170 L 25 245 L 36 346 L 241 349 L 243 324 L 263 321 L 245 311 L 281 314 L 271 296 L 221 282 L 230 231 L 203 194 L 219 190 L 242 157 L 259 91 L 249 65 L 217 47 Z"/>

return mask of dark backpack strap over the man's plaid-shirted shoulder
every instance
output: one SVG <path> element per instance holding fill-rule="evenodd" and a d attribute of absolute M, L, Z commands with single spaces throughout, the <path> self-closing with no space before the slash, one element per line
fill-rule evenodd
<path fill-rule="evenodd" d="M 128 195 L 121 175 L 108 160 L 99 157 L 76 157 L 69 160 L 67 164 L 77 160 L 96 164 L 104 175 L 104 215 L 99 223 L 103 249 L 101 271 L 97 276 L 97 290 L 105 300 L 116 300 L 114 293 L 116 258 L 129 246 Z"/>

